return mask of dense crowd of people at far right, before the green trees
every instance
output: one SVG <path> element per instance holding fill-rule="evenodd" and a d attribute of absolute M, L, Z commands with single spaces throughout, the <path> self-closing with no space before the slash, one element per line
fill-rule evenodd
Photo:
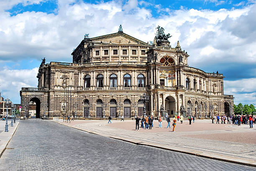
<path fill-rule="evenodd" d="M 241 124 L 245 124 L 245 125 L 250 125 L 250 128 L 253 128 L 253 124 L 256 123 L 256 116 L 254 115 L 230 115 L 225 116 L 225 115 L 212 115 L 212 123 L 220 123 L 221 120 L 221 124 L 233 124 L 233 125 L 237 125 L 237 126 L 241 126 Z M 232 123 L 231 123 L 232 122 Z"/>

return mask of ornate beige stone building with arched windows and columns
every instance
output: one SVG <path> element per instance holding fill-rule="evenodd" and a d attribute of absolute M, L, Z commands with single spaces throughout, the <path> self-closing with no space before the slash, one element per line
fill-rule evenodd
<path fill-rule="evenodd" d="M 223 74 L 188 66 L 179 41 L 172 48 L 167 38 L 156 36 L 150 45 L 122 30 L 85 37 L 72 53 L 73 63 L 43 60 L 38 88 L 20 91 L 22 115 L 28 116 L 30 101 L 36 102 L 36 117 L 133 117 L 143 110 L 153 116 L 232 114 L 233 96 L 223 93 Z"/>

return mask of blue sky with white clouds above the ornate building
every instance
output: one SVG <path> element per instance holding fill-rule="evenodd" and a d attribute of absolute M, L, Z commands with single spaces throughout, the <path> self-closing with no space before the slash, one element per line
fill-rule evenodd
<path fill-rule="evenodd" d="M 189 66 L 223 73 L 224 94 L 256 104 L 256 0 L 0 0 L 0 92 L 20 103 L 42 58 L 72 62 L 84 34 L 153 41 L 160 25 Z"/>

